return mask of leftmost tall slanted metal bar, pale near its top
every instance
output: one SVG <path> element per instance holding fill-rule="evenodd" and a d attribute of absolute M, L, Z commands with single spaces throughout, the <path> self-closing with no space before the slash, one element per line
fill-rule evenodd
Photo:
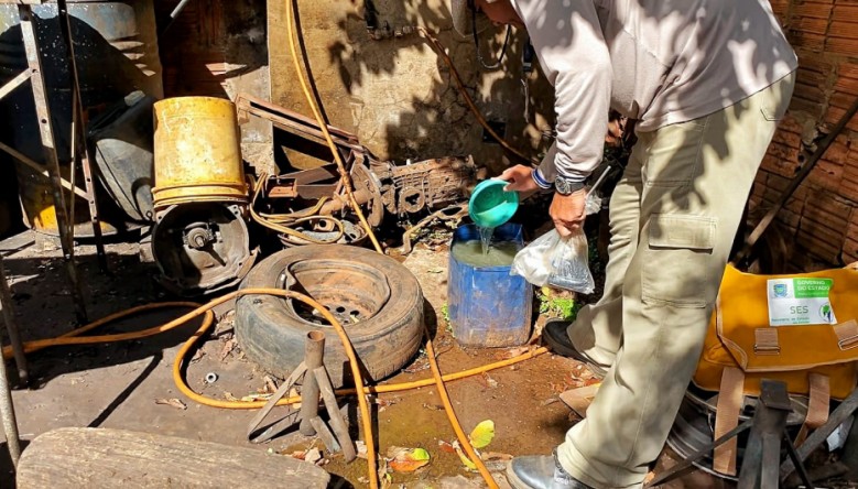
<path fill-rule="evenodd" d="M 59 230 L 59 242 L 63 247 L 63 259 L 65 260 L 66 272 L 68 273 L 68 284 L 75 306 L 75 315 L 79 323 L 85 324 L 87 323 L 86 304 L 84 303 L 84 293 L 77 278 L 74 242 L 67 232 L 68 214 L 66 214 L 67 207 L 61 182 L 62 177 L 59 176 L 59 160 L 56 154 L 54 128 L 53 122 L 51 121 L 51 110 L 47 105 L 45 80 L 42 72 L 42 59 L 39 56 L 39 41 L 36 40 L 32 19 L 33 15 L 30 7 L 19 6 L 18 12 L 21 17 L 21 33 L 24 40 L 26 62 L 33 74 L 30 85 L 33 87 L 33 99 L 35 101 L 35 110 L 39 118 L 39 135 L 42 139 L 45 160 L 47 161 L 48 172 L 51 173 L 51 183 L 53 184 L 54 209 L 56 213 L 57 228 Z"/>

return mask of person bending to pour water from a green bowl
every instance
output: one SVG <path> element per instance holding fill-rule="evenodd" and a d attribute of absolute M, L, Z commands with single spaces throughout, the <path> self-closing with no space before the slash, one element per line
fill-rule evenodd
<path fill-rule="evenodd" d="M 452 0 L 456 30 L 524 28 L 554 86 L 557 138 L 537 169 L 568 236 L 602 157 L 608 112 L 638 142 L 610 199 L 602 297 L 545 341 L 604 380 L 553 455 L 515 457 L 524 488 L 640 487 L 694 373 L 757 170 L 789 106 L 796 56 L 765 0 Z"/>

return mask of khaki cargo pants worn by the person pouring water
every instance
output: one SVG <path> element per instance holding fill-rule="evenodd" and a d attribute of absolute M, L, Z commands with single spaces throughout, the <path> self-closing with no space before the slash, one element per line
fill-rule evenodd
<path fill-rule="evenodd" d="M 610 200 L 605 294 L 568 328 L 609 368 L 561 465 L 596 488 L 639 487 L 700 356 L 734 236 L 794 75 L 709 116 L 639 133 Z"/>

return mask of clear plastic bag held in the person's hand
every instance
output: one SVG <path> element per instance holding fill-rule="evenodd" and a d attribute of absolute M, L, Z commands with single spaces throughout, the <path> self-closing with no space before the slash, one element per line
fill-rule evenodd
<path fill-rule="evenodd" d="M 536 285 L 590 294 L 595 287 L 584 231 L 561 238 L 556 229 L 540 236 L 515 254 L 510 274 Z"/>

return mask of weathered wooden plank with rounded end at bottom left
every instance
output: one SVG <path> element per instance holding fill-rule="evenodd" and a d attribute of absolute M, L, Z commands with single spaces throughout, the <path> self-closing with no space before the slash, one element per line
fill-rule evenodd
<path fill-rule="evenodd" d="M 18 488 L 325 488 L 313 464 L 243 447 L 124 430 L 59 428 L 36 437 Z"/>

